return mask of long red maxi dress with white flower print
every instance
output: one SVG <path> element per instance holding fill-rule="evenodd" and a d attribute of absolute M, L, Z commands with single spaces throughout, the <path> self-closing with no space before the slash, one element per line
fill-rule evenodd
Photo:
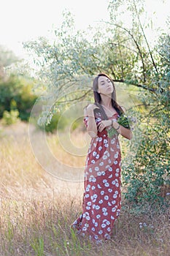
<path fill-rule="evenodd" d="M 115 113 L 109 119 L 117 118 Z M 96 124 L 102 118 L 101 113 L 95 113 Z M 84 118 L 88 126 L 88 116 Z M 120 214 L 120 143 L 116 135 L 109 138 L 107 129 L 98 131 L 92 138 L 85 162 L 84 194 L 82 214 L 72 227 L 81 236 L 101 242 L 111 238 L 112 227 Z"/>

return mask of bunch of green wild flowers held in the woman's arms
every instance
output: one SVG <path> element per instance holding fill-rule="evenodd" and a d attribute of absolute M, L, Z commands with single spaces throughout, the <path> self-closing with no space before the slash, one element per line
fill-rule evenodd
<path fill-rule="evenodd" d="M 125 114 L 118 116 L 117 119 L 117 123 L 127 129 L 134 129 L 131 127 L 132 122 L 136 123 L 136 118 L 134 116 L 125 116 Z M 107 134 L 109 138 L 112 138 L 113 135 L 117 134 L 117 131 L 113 127 L 107 128 Z"/>

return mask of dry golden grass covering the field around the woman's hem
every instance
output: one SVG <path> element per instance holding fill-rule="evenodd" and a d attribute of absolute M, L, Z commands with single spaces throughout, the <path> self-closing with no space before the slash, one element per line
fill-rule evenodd
<path fill-rule="evenodd" d="M 170 255 L 169 213 L 150 206 L 145 214 L 133 214 L 124 205 L 112 241 L 102 246 L 75 236 L 69 225 L 80 214 L 83 183 L 60 181 L 42 170 L 31 152 L 27 125 L 18 125 L 1 131 L 0 138 L 1 256 Z M 48 140 L 54 154 L 61 154 L 54 135 Z M 83 165 L 83 157 L 79 161 Z"/>

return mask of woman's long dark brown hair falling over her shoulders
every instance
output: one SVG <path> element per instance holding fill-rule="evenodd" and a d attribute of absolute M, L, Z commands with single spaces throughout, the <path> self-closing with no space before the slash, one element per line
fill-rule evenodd
<path fill-rule="evenodd" d="M 96 78 L 94 78 L 94 80 L 93 80 L 93 94 L 94 94 L 95 104 L 100 109 L 102 117 L 105 120 L 107 120 L 108 119 L 107 114 L 105 113 L 104 108 L 101 105 L 101 95 L 98 93 L 98 78 L 101 77 L 101 76 L 104 76 L 104 77 L 108 78 L 111 81 L 112 86 L 113 86 L 112 107 L 115 108 L 115 110 L 117 111 L 118 115 L 121 116 L 124 113 L 124 111 L 120 107 L 120 105 L 117 104 L 115 85 L 113 83 L 113 80 L 111 78 L 109 78 L 109 76 L 104 74 L 104 73 L 98 74 L 98 76 L 96 76 Z"/>

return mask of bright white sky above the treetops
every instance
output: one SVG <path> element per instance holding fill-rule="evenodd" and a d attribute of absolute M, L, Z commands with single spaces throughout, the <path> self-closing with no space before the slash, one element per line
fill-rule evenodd
<path fill-rule="evenodd" d="M 127 0 L 128 1 L 128 0 Z M 74 15 L 77 29 L 96 26 L 100 20 L 108 20 L 109 0 L 4 0 L 0 10 L 0 45 L 23 57 L 22 42 L 47 36 L 53 26 L 60 26 L 63 10 Z M 164 26 L 169 15 L 170 1 L 146 0 L 147 12 L 158 26 Z M 156 15 L 153 15 L 153 12 Z"/>

